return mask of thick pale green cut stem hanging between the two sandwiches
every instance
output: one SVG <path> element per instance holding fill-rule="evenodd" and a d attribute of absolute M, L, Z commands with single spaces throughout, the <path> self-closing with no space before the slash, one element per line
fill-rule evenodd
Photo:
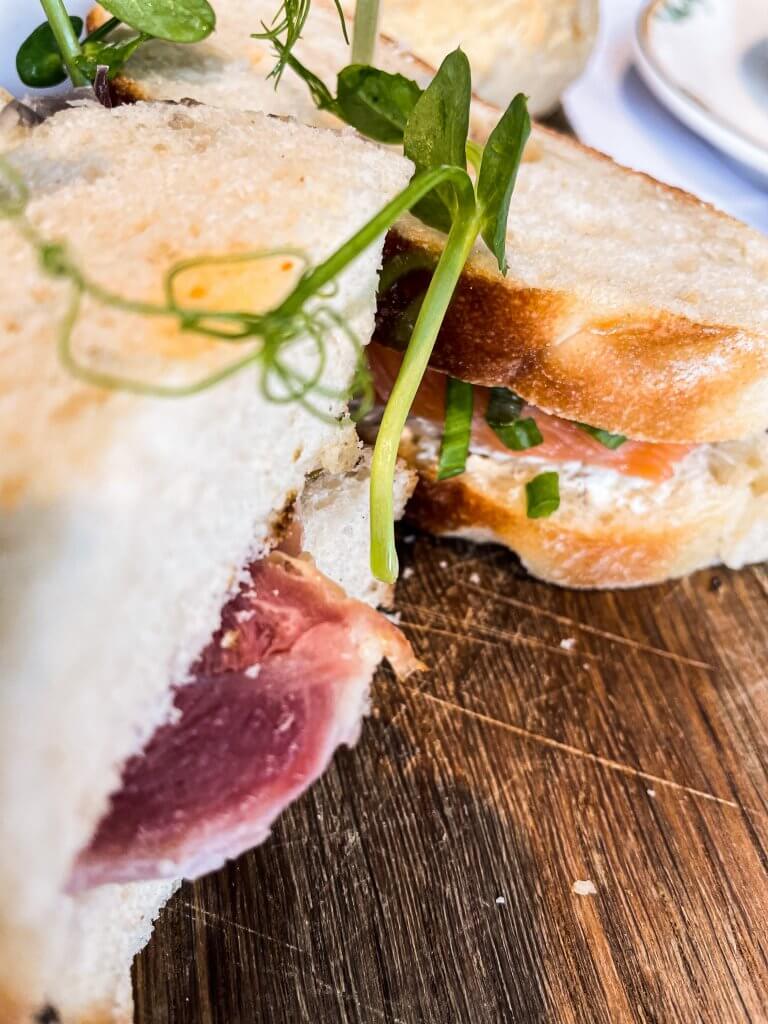
<path fill-rule="evenodd" d="M 451 228 L 424 298 L 397 380 L 384 410 L 371 465 L 371 570 L 384 583 L 397 579 L 392 486 L 397 449 L 408 414 L 427 369 L 445 310 L 480 229 L 474 203 Z"/>

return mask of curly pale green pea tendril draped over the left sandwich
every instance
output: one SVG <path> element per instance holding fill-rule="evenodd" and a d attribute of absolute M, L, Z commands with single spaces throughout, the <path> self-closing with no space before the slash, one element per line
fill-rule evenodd
<path fill-rule="evenodd" d="M 346 318 L 328 301 L 336 294 L 336 279 L 414 203 L 453 173 L 451 168 L 439 168 L 414 178 L 336 252 L 314 267 L 308 265 L 302 253 L 286 249 L 194 257 L 177 261 L 168 268 L 160 302 L 126 298 L 103 288 L 84 272 L 65 245 L 42 237 L 27 216 L 29 193 L 24 178 L 7 159 L 0 159 L 0 219 L 15 224 L 37 251 L 44 272 L 70 285 L 68 310 L 58 330 L 58 355 L 65 368 L 79 380 L 95 387 L 173 398 L 196 394 L 249 367 L 258 366 L 261 368 L 260 389 L 266 399 L 296 401 L 314 415 L 328 419 L 318 398 L 345 401 L 350 397 L 350 389 L 330 388 L 324 380 L 330 335 L 342 338 L 355 352 L 351 390 L 361 398 L 361 414 L 370 408 L 373 394 L 359 339 Z M 191 269 L 257 262 L 275 256 L 290 258 L 299 267 L 300 274 L 289 295 L 272 309 L 258 313 L 242 309 L 205 309 L 184 305 L 179 297 L 179 279 Z M 77 352 L 76 330 L 86 298 L 126 313 L 171 317 L 185 334 L 210 338 L 231 348 L 233 358 L 215 372 L 183 384 L 138 379 L 100 369 L 83 360 Z M 292 359 L 294 346 L 301 344 L 305 350 L 307 343 L 312 356 L 312 370 L 308 375 L 298 371 Z"/>

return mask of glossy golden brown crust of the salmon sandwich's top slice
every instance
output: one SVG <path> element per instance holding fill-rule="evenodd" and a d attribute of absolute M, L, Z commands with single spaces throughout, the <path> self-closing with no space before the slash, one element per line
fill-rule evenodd
<path fill-rule="evenodd" d="M 439 248 L 409 220 L 390 231 L 384 260 L 413 253 L 436 260 Z M 429 271 L 414 271 L 380 297 L 377 341 L 397 344 L 398 323 L 428 281 Z M 502 279 L 479 261 L 465 267 L 430 365 L 638 440 L 718 441 L 768 426 L 766 395 L 754 388 L 768 373 L 764 339 L 658 310 L 601 314 L 570 293 Z"/>

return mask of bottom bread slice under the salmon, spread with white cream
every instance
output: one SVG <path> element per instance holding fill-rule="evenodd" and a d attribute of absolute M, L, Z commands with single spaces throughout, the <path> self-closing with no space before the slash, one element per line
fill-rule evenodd
<path fill-rule="evenodd" d="M 438 441 L 418 428 L 401 454 L 421 474 L 409 515 L 433 534 L 511 548 L 534 574 L 564 587 L 639 587 L 768 558 L 768 436 L 702 444 L 664 482 L 583 463 L 471 455 L 435 479 Z M 525 483 L 559 473 L 560 508 L 528 519 Z"/>

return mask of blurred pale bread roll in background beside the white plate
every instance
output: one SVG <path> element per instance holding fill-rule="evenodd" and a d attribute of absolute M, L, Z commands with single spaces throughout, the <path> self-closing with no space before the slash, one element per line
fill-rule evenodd
<path fill-rule="evenodd" d="M 549 114 L 590 55 L 598 0 L 385 0 L 381 28 L 437 67 L 461 46 L 478 95 L 506 106 L 517 92 Z"/>

